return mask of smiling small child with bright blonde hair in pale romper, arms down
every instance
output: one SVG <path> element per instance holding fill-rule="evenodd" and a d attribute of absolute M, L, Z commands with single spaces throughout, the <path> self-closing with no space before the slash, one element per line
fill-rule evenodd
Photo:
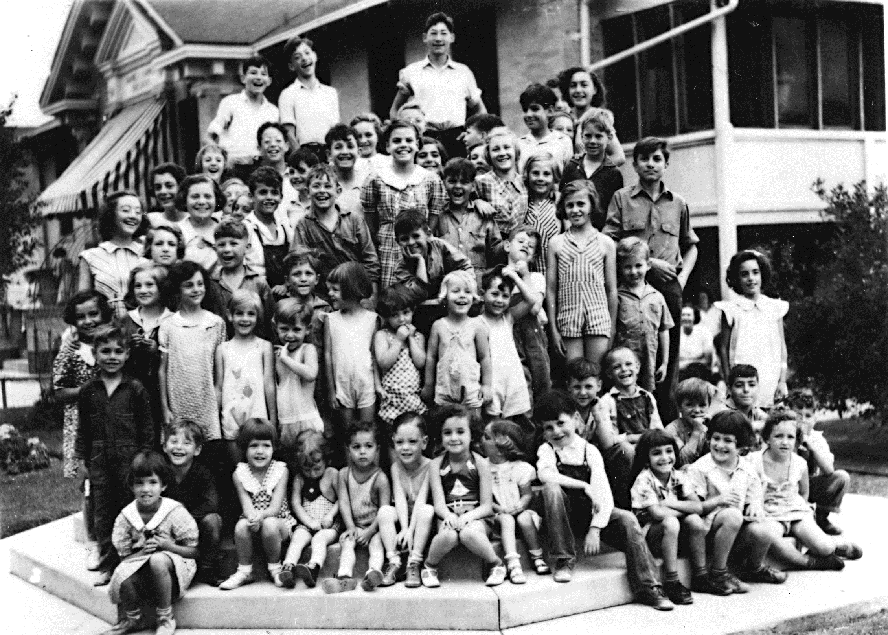
<path fill-rule="evenodd" d="M 493 399 L 490 335 L 484 322 L 470 318 L 478 297 L 475 274 L 451 271 L 441 282 L 447 315 L 432 324 L 422 398 L 439 406 L 463 404 L 473 414 Z"/>

